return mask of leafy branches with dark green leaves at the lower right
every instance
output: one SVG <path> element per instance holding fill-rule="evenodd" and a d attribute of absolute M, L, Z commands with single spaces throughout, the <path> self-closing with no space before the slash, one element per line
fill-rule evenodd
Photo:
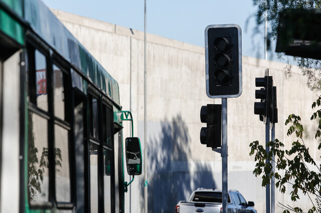
<path fill-rule="evenodd" d="M 313 102 L 312 108 L 318 109 L 312 114 L 311 121 L 317 120 L 318 126 L 315 132 L 315 138 L 318 139 L 318 149 L 321 149 L 321 96 Z M 259 141 L 250 143 L 250 155 L 254 155 L 256 166 L 253 173 L 258 176 L 262 175 L 262 186 L 270 183 L 272 176 L 275 177 L 275 185 L 282 193 L 290 190 L 292 201 L 299 199 L 299 192 L 308 196 L 312 204 L 308 212 L 320 212 L 321 203 L 321 165 L 317 165 L 315 160 L 309 154 L 309 148 L 304 144 L 303 133 L 304 127 L 300 123 L 301 118 L 295 114 L 290 114 L 285 121 L 288 125 L 287 135 L 294 135 L 296 140 L 292 142 L 289 149 L 284 149 L 284 144 L 275 139 L 270 141 L 270 151 L 267 152 Z M 275 155 L 275 165 L 278 171 L 272 170 L 272 155 Z M 321 156 L 320 156 L 321 157 Z M 288 189 L 286 186 L 291 185 Z M 283 205 L 283 212 L 303 212 L 299 207 L 291 207 Z"/>

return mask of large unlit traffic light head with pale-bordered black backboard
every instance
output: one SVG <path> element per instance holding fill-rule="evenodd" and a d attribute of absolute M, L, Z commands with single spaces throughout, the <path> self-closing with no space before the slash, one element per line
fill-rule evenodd
<path fill-rule="evenodd" d="M 211 98 L 242 93 L 241 28 L 237 24 L 205 29 L 206 93 Z"/>

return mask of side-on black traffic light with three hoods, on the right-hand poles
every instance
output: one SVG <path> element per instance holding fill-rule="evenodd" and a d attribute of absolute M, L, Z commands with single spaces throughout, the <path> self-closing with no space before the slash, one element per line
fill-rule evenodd
<path fill-rule="evenodd" d="M 273 79 L 272 76 L 256 77 L 255 86 L 263 87 L 255 90 L 255 98 L 261 99 L 260 102 L 254 102 L 254 114 L 260 115 L 260 120 L 266 122 L 266 117 L 272 118 L 272 96 Z"/>

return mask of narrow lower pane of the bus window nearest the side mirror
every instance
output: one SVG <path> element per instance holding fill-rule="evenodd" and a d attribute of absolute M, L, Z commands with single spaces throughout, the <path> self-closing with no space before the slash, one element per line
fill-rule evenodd
<path fill-rule="evenodd" d="M 105 212 L 111 212 L 111 174 L 112 151 L 104 149 L 104 206 Z"/>

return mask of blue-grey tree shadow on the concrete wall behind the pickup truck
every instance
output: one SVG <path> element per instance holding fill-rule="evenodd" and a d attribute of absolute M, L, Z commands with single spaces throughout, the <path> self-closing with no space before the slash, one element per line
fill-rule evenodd
<path fill-rule="evenodd" d="M 149 126 L 149 124 L 148 124 Z M 210 165 L 192 161 L 188 127 L 178 114 L 148 141 L 148 212 L 174 212 L 199 187 L 216 187 Z M 205 147 L 204 147 L 205 148 Z M 191 166 L 193 165 L 193 166 Z M 141 183 L 143 191 L 144 184 Z M 143 209 L 143 202 L 141 209 Z"/>

